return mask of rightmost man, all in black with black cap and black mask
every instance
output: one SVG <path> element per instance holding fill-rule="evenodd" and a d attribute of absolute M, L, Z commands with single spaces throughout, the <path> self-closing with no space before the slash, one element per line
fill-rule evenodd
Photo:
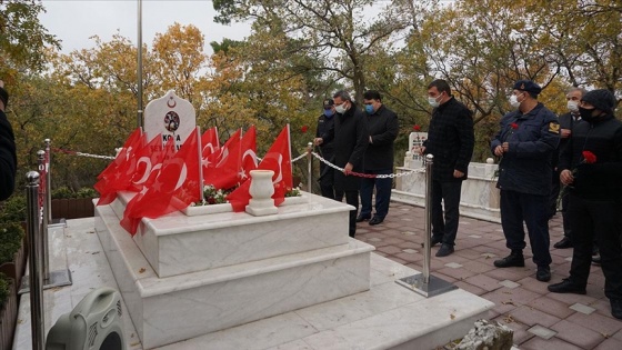
<path fill-rule="evenodd" d="M 579 104 L 584 122 L 572 130 L 572 147 L 562 150 L 560 180 L 569 186 L 574 250 L 570 277 L 549 286 L 549 291 L 585 294 L 595 237 L 604 294 L 611 314 L 622 319 L 622 122 L 613 116 L 616 103 L 609 90 L 585 93 Z"/>

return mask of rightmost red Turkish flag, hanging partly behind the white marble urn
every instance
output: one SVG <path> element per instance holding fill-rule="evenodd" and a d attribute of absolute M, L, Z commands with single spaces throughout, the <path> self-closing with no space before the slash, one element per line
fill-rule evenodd
<path fill-rule="evenodd" d="M 272 199 L 274 199 L 274 206 L 280 206 L 285 200 L 287 191 L 293 187 L 290 144 L 290 126 L 287 124 L 257 168 L 274 171 L 272 177 L 272 184 L 274 186 Z M 227 200 L 231 203 L 233 211 L 244 211 L 249 204 L 251 199 L 249 193 L 250 186 L 251 181 L 245 181 L 227 196 Z"/>

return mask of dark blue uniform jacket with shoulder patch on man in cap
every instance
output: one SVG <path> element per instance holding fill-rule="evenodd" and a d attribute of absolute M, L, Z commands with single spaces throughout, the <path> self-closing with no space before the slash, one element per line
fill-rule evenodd
<path fill-rule="evenodd" d="M 512 124 L 518 124 L 513 129 Z M 499 163 L 501 190 L 520 193 L 549 196 L 553 173 L 552 156 L 560 142 L 558 117 L 538 103 L 529 113 L 512 111 L 501 118 L 501 130 L 494 136 L 490 147 L 494 149 L 509 142 L 509 151 Z"/>

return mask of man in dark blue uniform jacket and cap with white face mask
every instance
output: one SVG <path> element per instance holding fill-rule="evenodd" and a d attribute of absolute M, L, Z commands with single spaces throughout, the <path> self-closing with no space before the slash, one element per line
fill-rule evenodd
<path fill-rule="evenodd" d="M 538 267 L 535 279 L 551 280 L 549 252 L 549 193 L 552 156 L 560 142 L 558 117 L 538 101 L 542 89 L 531 80 L 514 83 L 510 104 L 516 110 L 501 119 L 491 150 L 499 163 L 501 227 L 510 256 L 495 260 L 498 268 L 524 267 L 525 232 Z"/>

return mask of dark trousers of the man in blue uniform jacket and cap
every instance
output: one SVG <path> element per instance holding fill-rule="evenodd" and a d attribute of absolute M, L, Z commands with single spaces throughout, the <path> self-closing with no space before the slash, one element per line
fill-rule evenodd
<path fill-rule="evenodd" d="M 501 190 L 500 199 L 501 227 L 505 236 L 505 246 L 511 250 L 523 250 L 526 247 L 524 221 L 533 252 L 533 262 L 539 267 L 549 267 L 552 261 L 549 252 L 551 242 L 549 212 L 546 211 L 549 196 Z"/>

